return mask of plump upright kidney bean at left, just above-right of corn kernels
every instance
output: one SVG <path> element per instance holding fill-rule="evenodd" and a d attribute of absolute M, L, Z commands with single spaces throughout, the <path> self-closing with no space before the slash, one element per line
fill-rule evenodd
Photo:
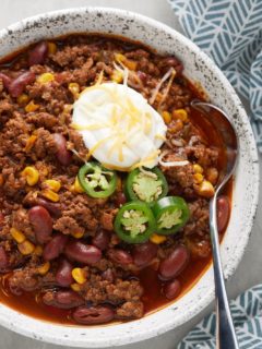
<path fill-rule="evenodd" d="M 49 241 L 52 232 L 52 219 L 43 206 L 34 206 L 28 210 L 28 218 L 39 243 Z"/>

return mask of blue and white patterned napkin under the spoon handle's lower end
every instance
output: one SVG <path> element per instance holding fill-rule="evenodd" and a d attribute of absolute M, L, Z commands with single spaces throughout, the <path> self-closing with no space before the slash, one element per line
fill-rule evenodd
<path fill-rule="evenodd" d="M 241 349 L 262 348 L 262 284 L 257 285 L 234 301 L 230 310 Z M 215 314 L 204 317 L 177 349 L 215 349 Z M 228 348 L 230 349 L 230 348 Z"/>

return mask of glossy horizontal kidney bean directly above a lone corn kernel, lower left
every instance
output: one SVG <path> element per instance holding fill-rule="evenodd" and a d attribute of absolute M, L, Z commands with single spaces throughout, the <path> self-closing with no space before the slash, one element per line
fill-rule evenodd
<path fill-rule="evenodd" d="M 64 253 L 70 260 L 83 264 L 94 264 L 102 257 L 99 249 L 81 241 L 70 241 L 66 246 Z"/>

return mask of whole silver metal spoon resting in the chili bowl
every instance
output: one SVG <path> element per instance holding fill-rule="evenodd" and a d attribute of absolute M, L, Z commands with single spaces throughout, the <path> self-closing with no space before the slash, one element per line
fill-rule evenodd
<path fill-rule="evenodd" d="M 215 293 L 216 293 L 216 348 L 219 349 L 238 349 L 237 336 L 235 333 L 230 309 L 225 288 L 225 279 L 223 275 L 223 267 L 219 254 L 219 239 L 217 231 L 216 219 L 216 202 L 224 185 L 233 176 L 237 159 L 238 159 L 238 136 L 234 125 L 231 124 L 228 116 L 218 107 L 193 100 L 191 106 L 200 111 L 219 132 L 223 144 L 225 146 L 225 154 L 227 158 L 226 168 L 216 184 L 215 194 L 210 201 L 210 233 L 213 253 L 213 267 L 215 279 Z"/>

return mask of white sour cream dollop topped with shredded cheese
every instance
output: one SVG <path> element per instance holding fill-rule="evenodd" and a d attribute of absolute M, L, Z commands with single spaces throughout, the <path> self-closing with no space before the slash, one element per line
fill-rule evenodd
<path fill-rule="evenodd" d="M 167 131 L 140 93 L 117 83 L 84 89 L 73 106 L 72 127 L 83 136 L 88 155 L 122 171 L 156 166 Z"/>

